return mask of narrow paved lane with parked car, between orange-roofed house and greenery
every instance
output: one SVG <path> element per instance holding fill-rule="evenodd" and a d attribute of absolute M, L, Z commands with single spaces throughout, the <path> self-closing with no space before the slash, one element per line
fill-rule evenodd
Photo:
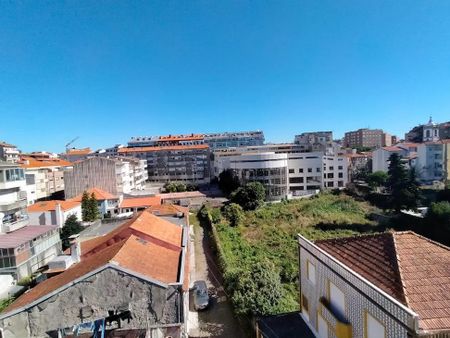
<path fill-rule="evenodd" d="M 205 280 L 211 304 L 207 310 L 189 311 L 189 337 L 245 337 L 239 321 L 234 317 L 230 301 L 223 288 L 223 280 L 211 250 L 211 239 L 203 228 L 195 226 L 191 233 L 194 247 L 191 261 L 191 285 L 195 280 Z M 190 297 L 192 307 L 192 295 Z"/>

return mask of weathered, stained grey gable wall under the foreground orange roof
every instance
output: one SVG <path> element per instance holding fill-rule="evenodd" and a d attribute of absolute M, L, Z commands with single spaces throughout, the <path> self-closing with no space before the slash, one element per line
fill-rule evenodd
<path fill-rule="evenodd" d="M 175 287 L 167 289 L 107 268 L 14 316 L 0 319 L 5 338 L 49 337 L 58 328 L 108 316 L 108 310 L 129 306 L 132 320 L 123 328 L 147 328 L 179 322 Z"/>

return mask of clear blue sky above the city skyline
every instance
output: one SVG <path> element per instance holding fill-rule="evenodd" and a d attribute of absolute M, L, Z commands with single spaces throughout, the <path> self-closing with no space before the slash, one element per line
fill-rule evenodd
<path fill-rule="evenodd" d="M 4 1 L 0 140 L 450 120 L 450 1 Z"/>

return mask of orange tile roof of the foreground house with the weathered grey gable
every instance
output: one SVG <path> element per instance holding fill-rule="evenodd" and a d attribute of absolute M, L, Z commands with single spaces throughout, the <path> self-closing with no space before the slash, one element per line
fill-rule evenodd
<path fill-rule="evenodd" d="M 80 263 L 24 293 L 4 312 L 29 305 L 108 263 L 166 284 L 180 282 L 182 232 L 182 227 L 144 211 L 111 233 L 82 242 Z"/>

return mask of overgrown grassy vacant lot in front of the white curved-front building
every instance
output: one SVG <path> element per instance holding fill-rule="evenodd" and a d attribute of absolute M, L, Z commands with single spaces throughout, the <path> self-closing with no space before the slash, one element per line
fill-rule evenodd
<path fill-rule="evenodd" d="M 216 229 L 225 280 L 268 260 L 275 265 L 283 286 L 281 304 L 270 312 L 298 310 L 297 234 L 317 240 L 375 232 L 380 229 L 369 220 L 374 211 L 346 195 L 321 194 L 246 212 L 238 227 L 230 227 L 222 219 Z"/>

